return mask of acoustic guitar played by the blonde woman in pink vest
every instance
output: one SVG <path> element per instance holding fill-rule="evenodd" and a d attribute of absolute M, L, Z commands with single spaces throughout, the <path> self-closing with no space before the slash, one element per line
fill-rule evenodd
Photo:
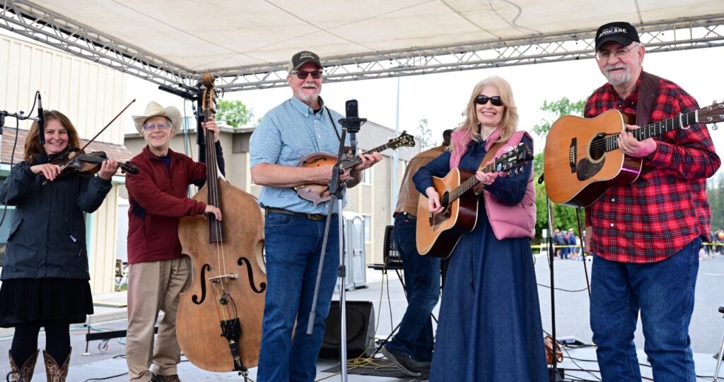
<path fill-rule="evenodd" d="M 513 174 L 533 155 L 524 143 L 502 154 L 483 172 L 508 171 Z M 416 244 L 420 255 L 447 258 L 458 245 L 460 237 L 475 229 L 478 221 L 478 195 L 473 187 L 480 181 L 471 171 L 451 169 L 443 178 L 432 177 L 432 187 L 440 195 L 440 205 L 445 208 L 431 213 L 428 198 L 420 195 L 417 203 Z"/>

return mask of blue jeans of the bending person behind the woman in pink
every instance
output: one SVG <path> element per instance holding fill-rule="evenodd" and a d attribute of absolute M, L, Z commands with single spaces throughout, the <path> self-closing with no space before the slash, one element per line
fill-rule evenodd
<path fill-rule="evenodd" d="M 397 334 L 386 347 L 411 355 L 415 360 L 430 362 L 434 347 L 430 313 L 440 295 L 440 259 L 421 256 L 417 252 L 415 226 L 416 220 L 406 214 L 395 217 L 392 233 L 403 260 L 408 307 Z"/>

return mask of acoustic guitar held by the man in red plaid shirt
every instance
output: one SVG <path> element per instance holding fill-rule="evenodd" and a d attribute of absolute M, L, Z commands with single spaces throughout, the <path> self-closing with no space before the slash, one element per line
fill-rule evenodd
<path fill-rule="evenodd" d="M 724 103 L 682 113 L 648 124 L 631 133 L 637 140 L 686 129 L 694 123 L 724 120 Z M 545 190 L 555 203 L 588 207 L 616 184 L 628 184 L 641 174 L 642 158 L 627 156 L 616 138 L 633 124 L 631 114 L 609 110 L 594 118 L 562 116 L 550 128 L 545 143 Z"/>

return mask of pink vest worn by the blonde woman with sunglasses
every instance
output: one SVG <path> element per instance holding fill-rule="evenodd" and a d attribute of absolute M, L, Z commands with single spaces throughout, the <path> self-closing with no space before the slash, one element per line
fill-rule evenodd
<path fill-rule="evenodd" d="M 450 155 L 450 169 L 460 164 L 460 158 L 466 152 L 468 143 L 472 140 L 466 135 L 465 131 L 452 132 L 451 144 L 452 153 Z M 533 139 L 524 131 L 518 131 L 502 145 L 500 150 L 495 153 L 495 158 L 500 158 L 503 153 L 510 151 L 515 145 L 521 143 L 523 137 L 528 137 L 531 142 Z M 485 149 L 490 150 L 496 140 L 500 138 L 500 132 L 495 130 L 485 143 Z M 500 203 L 487 190 L 483 190 L 483 200 L 485 200 L 485 211 L 487 212 L 488 221 L 492 226 L 493 233 L 497 239 L 510 239 L 513 237 L 530 237 L 533 238 L 536 233 L 536 190 L 533 184 L 533 171 L 528 179 L 526 187 L 526 195 L 523 196 L 521 203 L 515 205 L 507 205 Z"/>

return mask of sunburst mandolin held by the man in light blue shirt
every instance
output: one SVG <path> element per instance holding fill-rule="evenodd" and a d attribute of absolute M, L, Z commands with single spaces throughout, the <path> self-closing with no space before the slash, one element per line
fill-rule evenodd
<path fill-rule="evenodd" d="M 365 154 L 380 153 L 388 148 L 397 149 L 401 147 L 415 147 L 415 137 L 409 135 L 406 131 L 403 131 L 399 137 L 392 138 L 384 145 L 373 148 L 372 150 L 365 151 Z M 359 164 L 362 160 L 359 156 L 352 157 L 351 153 L 347 153 L 347 159 L 340 163 L 340 169 L 350 169 L 356 164 Z M 328 153 L 311 153 L 304 158 L 299 160 L 297 167 L 318 167 L 318 166 L 329 166 L 332 167 L 337 164 L 337 156 Z M 294 190 L 305 200 L 309 200 L 318 205 L 319 203 L 326 202 L 329 200 L 329 185 L 328 184 L 300 184 L 294 187 Z"/>

